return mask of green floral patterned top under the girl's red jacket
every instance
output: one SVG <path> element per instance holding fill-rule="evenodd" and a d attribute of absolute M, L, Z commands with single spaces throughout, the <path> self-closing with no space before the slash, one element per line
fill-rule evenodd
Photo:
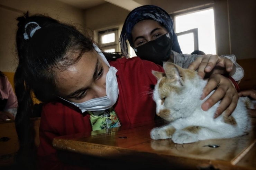
<path fill-rule="evenodd" d="M 117 117 L 116 111 L 111 107 L 110 109 L 103 110 L 99 115 L 88 111 L 90 114 L 90 122 L 92 130 L 108 129 L 121 126 Z"/>

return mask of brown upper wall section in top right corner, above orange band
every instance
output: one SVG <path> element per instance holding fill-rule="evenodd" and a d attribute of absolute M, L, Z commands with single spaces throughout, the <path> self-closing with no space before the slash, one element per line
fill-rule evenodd
<path fill-rule="evenodd" d="M 237 59 L 256 58 L 256 1 L 229 0 L 231 53 Z"/>

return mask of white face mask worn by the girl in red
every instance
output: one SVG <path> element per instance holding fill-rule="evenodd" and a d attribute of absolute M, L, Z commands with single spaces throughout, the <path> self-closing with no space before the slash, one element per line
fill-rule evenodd
<path fill-rule="evenodd" d="M 106 75 L 106 94 L 107 96 L 94 98 L 91 100 L 88 100 L 83 103 L 74 103 L 66 100 L 68 103 L 73 104 L 74 106 L 77 106 L 80 108 L 82 113 L 84 113 L 87 110 L 90 111 L 96 111 L 96 110 L 106 110 L 112 107 L 116 102 L 119 94 L 118 90 L 118 84 L 117 84 L 117 69 L 115 67 L 112 67 L 109 65 L 106 57 L 102 54 L 98 46 L 93 44 L 94 49 L 98 52 L 98 54 L 101 56 L 103 61 L 109 66 L 109 71 Z M 61 98 L 61 97 L 60 97 Z M 63 98 L 62 98 L 63 99 Z M 65 99 L 63 99 L 65 100 Z"/>

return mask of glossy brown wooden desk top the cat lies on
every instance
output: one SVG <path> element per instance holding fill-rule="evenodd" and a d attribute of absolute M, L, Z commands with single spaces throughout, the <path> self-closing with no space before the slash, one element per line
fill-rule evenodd
<path fill-rule="evenodd" d="M 161 121 L 57 137 L 56 149 L 68 150 L 110 159 L 176 165 L 186 169 L 212 166 L 216 169 L 255 169 L 256 130 L 249 135 L 229 139 L 213 139 L 192 144 L 174 144 L 171 140 L 152 140 L 150 130 Z M 255 123 L 254 123 L 255 125 Z M 205 145 L 219 145 L 211 148 Z M 145 159 L 144 159 L 145 158 Z M 128 161 L 128 160 L 127 160 Z"/>

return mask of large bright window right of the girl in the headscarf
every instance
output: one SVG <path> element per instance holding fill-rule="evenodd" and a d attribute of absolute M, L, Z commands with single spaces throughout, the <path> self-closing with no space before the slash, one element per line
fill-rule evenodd
<path fill-rule="evenodd" d="M 216 54 L 213 8 L 176 15 L 174 21 L 182 53 Z"/>

